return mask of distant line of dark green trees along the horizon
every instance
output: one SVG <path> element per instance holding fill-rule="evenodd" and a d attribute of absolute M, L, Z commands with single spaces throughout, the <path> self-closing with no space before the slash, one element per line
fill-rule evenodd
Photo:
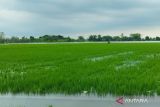
<path fill-rule="evenodd" d="M 142 38 L 140 33 L 133 33 L 129 36 L 125 36 L 123 33 L 120 36 L 111 35 L 90 35 L 88 38 L 79 36 L 77 39 L 71 37 L 65 37 L 62 35 L 44 35 L 40 37 L 16 37 L 5 38 L 3 32 L 0 32 L 0 43 L 32 43 L 32 42 L 85 42 L 85 41 L 160 41 L 160 37 L 145 36 Z"/>

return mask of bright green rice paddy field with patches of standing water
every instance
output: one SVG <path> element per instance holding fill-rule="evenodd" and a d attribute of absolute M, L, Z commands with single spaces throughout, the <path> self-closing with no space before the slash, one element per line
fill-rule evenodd
<path fill-rule="evenodd" d="M 160 95 L 160 44 L 0 45 L 0 92 Z"/>

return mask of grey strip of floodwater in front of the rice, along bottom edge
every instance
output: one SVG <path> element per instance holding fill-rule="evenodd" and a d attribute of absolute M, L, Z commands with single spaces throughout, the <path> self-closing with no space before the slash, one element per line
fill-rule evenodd
<path fill-rule="evenodd" d="M 120 100 L 120 102 L 116 102 Z M 0 107 L 159 107 L 160 97 L 0 95 Z"/>

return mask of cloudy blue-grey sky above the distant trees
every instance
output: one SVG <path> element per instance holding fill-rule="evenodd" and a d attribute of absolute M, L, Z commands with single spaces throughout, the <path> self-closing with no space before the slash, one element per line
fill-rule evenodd
<path fill-rule="evenodd" d="M 160 36 L 160 0 L 0 0 L 6 35 Z"/>

